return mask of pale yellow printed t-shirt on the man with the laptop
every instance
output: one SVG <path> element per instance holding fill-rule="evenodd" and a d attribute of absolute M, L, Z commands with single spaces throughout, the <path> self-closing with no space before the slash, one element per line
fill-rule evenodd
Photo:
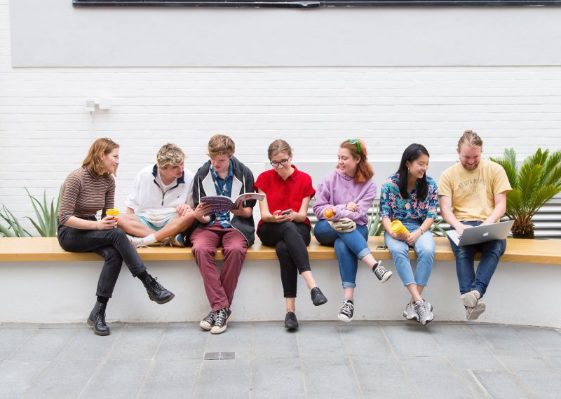
<path fill-rule="evenodd" d="M 512 190 L 501 165 L 481 160 L 468 171 L 460 162 L 440 175 L 440 197 L 452 198 L 452 211 L 459 221 L 485 221 L 495 207 L 494 196 Z"/>

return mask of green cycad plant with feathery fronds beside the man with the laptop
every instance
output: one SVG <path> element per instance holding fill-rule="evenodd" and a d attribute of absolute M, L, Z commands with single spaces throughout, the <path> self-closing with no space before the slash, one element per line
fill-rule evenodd
<path fill-rule="evenodd" d="M 561 193 L 561 150 L 548 149 L 529 155 L 522 166 L 516 165 L 516 153 L 506 148 L 504 158 L 489 158 L 501 165 L 513 190 L 506 194 L 506 216 L 514 221 L 515 238 L 534 238 L 532 216 L 543 204 Z"/>

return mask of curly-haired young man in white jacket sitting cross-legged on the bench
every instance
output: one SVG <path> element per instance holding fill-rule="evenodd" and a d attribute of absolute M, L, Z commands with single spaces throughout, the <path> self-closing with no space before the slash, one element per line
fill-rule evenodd
<path fill-rule="evenodd" d="M 184 159 L 181 148 L 168 143 L 158 151 L 156 165 L 137 174 L 125 202 L 126 214 L 118 221 L 136 247 L 156 241 L 184 246 L 180 232 L 194 221 L 194 174 L 184 169 Z"/>

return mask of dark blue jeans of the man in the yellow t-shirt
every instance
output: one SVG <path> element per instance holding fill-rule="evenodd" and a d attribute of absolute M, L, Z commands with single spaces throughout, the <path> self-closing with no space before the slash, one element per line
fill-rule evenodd
<path fill-rule="evenodd" d="M 461 222 L 464 225 L 478 226 L 481 221 Z M 451 229 L 453 230 L 453 229 Z M 466 246 L 457 246 L 449 239 L 452 251 L 456 256 L 456 273 L 458 274 L 458 283 L 460 293 L 465 294 L 471 290 L 478 290 L 481 297 L 485 295 L 487 286 L 491 281 L 496 265 L 499 264 L 499 258 L 506 249 L 506 239 L 496 239 L 481 244 L 473 244 Z M 481 260 L 479 262 L 477 272 L 474 272 L 473 260 L 475 253 L 481 252 Z"/>

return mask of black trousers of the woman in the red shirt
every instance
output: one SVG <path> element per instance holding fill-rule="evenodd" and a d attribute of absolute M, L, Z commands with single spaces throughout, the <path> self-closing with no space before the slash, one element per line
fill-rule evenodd
<path fill-rule="evenodd" d="M 262 244 L 275 247 L 285 298 L 296 297 L 298 273 L 311 270 L 306 248 L 311 239 L 308 225 L 295 222 L 264 222 L 257 229 L 257 237 Z"/>

